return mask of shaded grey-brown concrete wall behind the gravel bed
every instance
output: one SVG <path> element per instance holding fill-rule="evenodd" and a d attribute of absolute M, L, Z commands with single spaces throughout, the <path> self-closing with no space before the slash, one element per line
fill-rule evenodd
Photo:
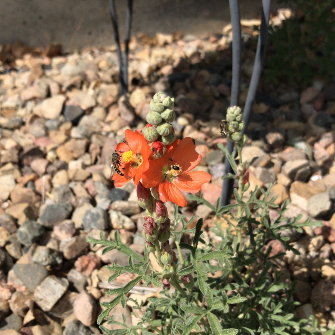
<path fill-rule="evenodd" d="M 127 0 L 116 0 L 121 39 Z M 261 0 L 240 0 L 241 16 L 260 16 Z M 273 9 L 277 8 L 276 4 Z M 228 0 L 134 0 L 132 34 L 199 37 L 229 22 Z M 108 0 L 0 0 L 0 44 L 20 40 L 32 47 L 61 43 L 65 51 L 114 44 Z"/>

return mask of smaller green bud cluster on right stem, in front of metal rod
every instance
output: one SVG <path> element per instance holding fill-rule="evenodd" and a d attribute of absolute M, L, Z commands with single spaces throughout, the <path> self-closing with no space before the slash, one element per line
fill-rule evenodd
<path fill-rule="evenodd" d="M 247 143 L 247 136 L 242 135 L 241 131 L 244 128 L 243 115 L 242 110 L 238 106 L 232 106 L 227 109 L 226 116 L 226 133 L 227 137 L 240 145 L 244 145 Z"/>

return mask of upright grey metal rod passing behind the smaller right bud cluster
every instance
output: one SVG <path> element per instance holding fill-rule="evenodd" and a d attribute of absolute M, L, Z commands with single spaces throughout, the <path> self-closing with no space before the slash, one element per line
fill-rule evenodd
<path fill-rule="evenodd" d="M 231 95 L 230 106 L 239 104 L 240 95 L 240 76 L 241 76 L 241 16 L 240 7 L 237 0 L 229 0 L 230 20 L 232 28 L 232 75 L 231 75 Z M 234 144 L 231 141 L 227 143 L 227 150 L 231 154 Z M 224 158 L 224 175 L 232 173 L 232 168 L 227 157 Z M 229 204 L 232 194 L 234 181 L 232 179 L 224 179 L 221 191 L 221 206 Z"/>

